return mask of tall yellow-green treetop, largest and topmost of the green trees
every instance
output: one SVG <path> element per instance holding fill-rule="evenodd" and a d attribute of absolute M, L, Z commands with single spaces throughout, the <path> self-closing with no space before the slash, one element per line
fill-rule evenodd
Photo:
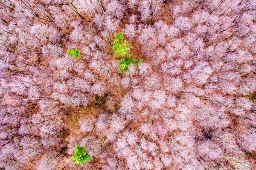
<path fill-rule="evenodd" d="M 122 56 L 124 57 L 127 54 L 127 52 L 131 51 L 131 44 L 128 43 L 126 40 L 124 40 L 124 32 L 120 32 L 118 34 L 115 34 L 115 38 L 113 40 L 113 52 L 115 53 L 116 57 Z"/>

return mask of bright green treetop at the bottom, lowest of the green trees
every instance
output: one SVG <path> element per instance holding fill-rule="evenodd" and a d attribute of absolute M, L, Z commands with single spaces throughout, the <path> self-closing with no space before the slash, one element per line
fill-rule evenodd
<path fill-rule="evenodd" d="M 83 166 L 84 162 L 90 161 L 93 159 L 88 153 L 87 148 L 81 147 L 80 144 L 76 145 L 75 155 L 72 156 L 72 159 L 76 162 L 76 164 L 80 164 Z"/>

